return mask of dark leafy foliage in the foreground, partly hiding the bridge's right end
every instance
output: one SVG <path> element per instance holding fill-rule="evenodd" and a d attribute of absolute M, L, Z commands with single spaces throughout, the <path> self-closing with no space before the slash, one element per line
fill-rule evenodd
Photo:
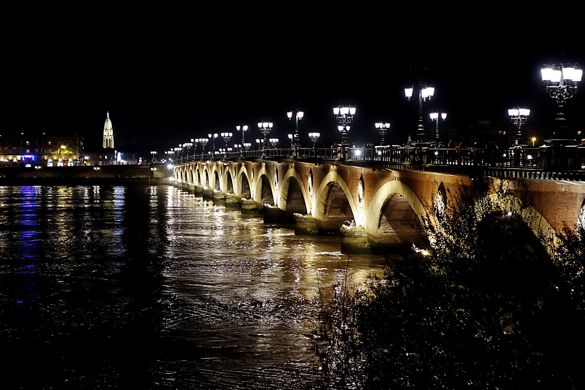
<path fill-rule="evenodd" d="M 314 343 L 332 388 L 577 388 L 583 227 L 550 234 L 506 188 L 476 181 L 436 197 L 428 251 L 333 288 Z"/>

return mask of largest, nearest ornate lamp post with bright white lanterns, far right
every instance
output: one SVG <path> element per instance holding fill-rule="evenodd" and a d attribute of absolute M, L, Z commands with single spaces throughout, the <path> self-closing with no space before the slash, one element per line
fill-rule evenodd
<path fill-rule="evenodd" d="M 546 85 L 546 93 L 555 99 L 557 104 L 555 123 L 559 134 L 555 133 L 555 136 L 567 137 L 563 106 L 577 92 L 577 85 L 583 77 L 583 70 L 573 64 L 543 65 L 541 75 L 542 81 Z"/>

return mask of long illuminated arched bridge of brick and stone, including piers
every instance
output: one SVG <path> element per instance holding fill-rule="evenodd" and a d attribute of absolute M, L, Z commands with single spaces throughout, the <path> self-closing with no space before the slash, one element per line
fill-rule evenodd
<path fill-rule="evenodd" d="M 580 171 L 376 161 L 356 158 L 355 151 L 338 158 L 334 151 L 307 158 L 294 156 L 294 150 L 277 156 L 266 151 L 213 160 L 201 156 L 175 165 L 172 180 L 226 208 L 263 215 L 265 223 L 294 222 L 295 234 L 341 234 L 343 253 L 387 253 L 424 244 L 420 219 L 433 199 L 449 201 L 478 176 L 492 178 L 494 186 L 504 181 L 524 199 L 535 233 L 555 236 L 585 219 Z M 520 202 L 512 203 L 508 211 L 513 212 Z"/>

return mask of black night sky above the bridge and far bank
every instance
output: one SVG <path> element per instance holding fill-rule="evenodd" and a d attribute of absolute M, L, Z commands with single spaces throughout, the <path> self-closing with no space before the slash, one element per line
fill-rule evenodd
<path fill-rule="evenodd" d="M 555 107 L 540 65 L 559 57 L 584 64 L 581 33 L 569 31 L 559 46 L 543 26 L 495 16 L 504 9 L 415 16 L 297 7 L 302 12 L 292 4 L 15 11 L 5 51 L 12 112 L 5 126 L 76 132 L 94 149 L 109 110 L 116 146 L 161 153 L 238 123 L 250 125 L 252 140 L 257 120 L 267 119 L 284 146 L 293 126 L 286 111 L 300 101 L 302 136 L 319 131 L 331 144 L 339 139 L 332 106 L 345 102 L 357 106 L 351 142 L 377 141 L 373 123 L 384 120 L 392 124 L 390 141 L 404 143 L 418 105 L 404 99 L 403 88 L 420 75 L 436 88 L 425 118 L 439 107 L 449 113 L 445 126 L 508 126 L 505 110 L 526 105 L 528 125 L 546 126 Z M 580 127 L 584 95 L 566 110 Z"/>

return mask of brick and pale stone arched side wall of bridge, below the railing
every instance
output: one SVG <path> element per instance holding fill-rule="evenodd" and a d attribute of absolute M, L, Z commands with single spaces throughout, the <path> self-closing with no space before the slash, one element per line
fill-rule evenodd
<path fill-rule="evenodd" d="M 343 222 L 355 220 L 373 248 L 424 239 L 418 218 L 439 186 L 449 200 L 471 184 L 462 174 L 290 161 L 194 161 L 177 165 L 174 177 L 182 185 L 251 198 L 260 208 L 275 205 L 284 216 L 310 215 L 321 234 L 339 234 Z M 518 196 L 522 192 L 529 212 L 536 216 L 538 226 L 533 230 L 560 232 L 565 224 L 576 226 L 584 207 L 585 182 L 525 179 L 520 185 L 515 178 L 494 178 L 493 185 L 498 180 L 505 180 Z"/>

